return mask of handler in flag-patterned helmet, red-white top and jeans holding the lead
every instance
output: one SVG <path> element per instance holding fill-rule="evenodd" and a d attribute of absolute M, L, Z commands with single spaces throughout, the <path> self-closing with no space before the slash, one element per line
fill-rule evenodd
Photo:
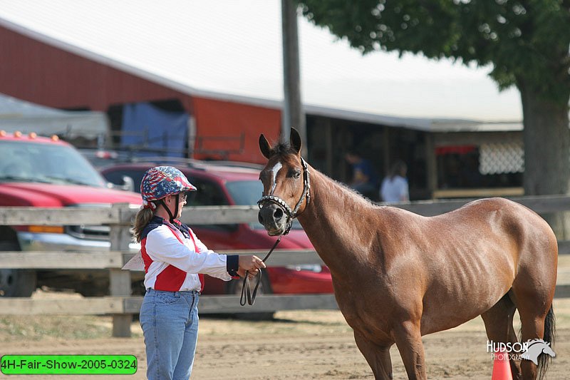
<path fill-rule="evenodd" d="M 202 274 L 229 281 L 246 271 L 257 274 L 265 267 L 257 256 L 219 255 L 208 250 L 180 223 L 186 192 L 195 190 L 172 166 L 147 170 L 140 184 L 142 206 L 133 230 L 145 263 L 147 292 L 140 307 L 140 325 L 150 380 L 190 379 Z"/>

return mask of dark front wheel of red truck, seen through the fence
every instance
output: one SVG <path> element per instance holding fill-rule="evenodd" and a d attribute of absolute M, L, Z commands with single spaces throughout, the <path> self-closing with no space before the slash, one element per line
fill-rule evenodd
<path fill-rule="evenodd" d="M 18 242 L 0 242 L 0 251 L 19 250 Z M 0 297 L 30 297 L 36 284 L 35 270 L 0 269 Z"/>

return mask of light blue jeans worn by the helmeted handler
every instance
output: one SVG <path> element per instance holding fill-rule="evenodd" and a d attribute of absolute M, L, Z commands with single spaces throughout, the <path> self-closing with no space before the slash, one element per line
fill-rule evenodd
<path fill-rule="evenodd" d="M 190 379 L 198 340 L 199 292 L 148 289 L 140 307 L 147 379 Z"/>

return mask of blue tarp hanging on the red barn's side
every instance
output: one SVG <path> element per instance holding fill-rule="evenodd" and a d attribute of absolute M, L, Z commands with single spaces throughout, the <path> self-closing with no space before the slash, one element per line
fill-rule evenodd
<path fill-rule="evenodd" d="M 134 153 L 138 156 L 185 157 L 188 118 L 185 112 L 164 111 L 149 103 L 126 104 L 121 145 L 141 147 Z"/>

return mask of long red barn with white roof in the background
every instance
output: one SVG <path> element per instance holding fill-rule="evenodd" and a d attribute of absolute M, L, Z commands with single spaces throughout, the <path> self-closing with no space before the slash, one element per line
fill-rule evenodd
<path fill-rule="evenodd" d="M 302 17 L 299 46 L 308 158 L 333 178 L 348 179 L 344 153 L 358 148 L 379 175 L 395 158 L 405 160 L 410 195 L 430 197 L 448 185 L 441 171 L 448 148 L 476 145 L 479 154 L 480 142 L 492 140 L 514 143 L 516 153 L 522 146 L 519 97 L 499 94 L 484 70 L 361 56 Z M 195 158 L 260 163 L 259 134 L 279 136 L 277 0 L 8 0 L 0 8 L 0 56 L 0 93 L 103 111 L 123 135 L 133 105 L 165 117 L 185 113 L 182 145 Z M 147 115 L 137 115 L 135 129 L 145 130 Z M 504 148 L 484 151 L 497 150 Z"/>

